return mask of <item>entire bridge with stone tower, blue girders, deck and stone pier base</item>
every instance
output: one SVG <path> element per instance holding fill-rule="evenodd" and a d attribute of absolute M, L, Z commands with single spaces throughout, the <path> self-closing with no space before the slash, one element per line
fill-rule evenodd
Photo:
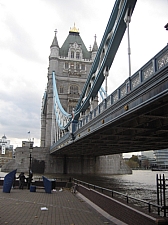
<path fill-rule="evenodd" d="M 75 25 L 61 47 L 55 32 L 34 173 L 131 173 L 121 153 L 168 147 L 168 45 L 133 75 L 129 64 L 129 77 L 110 95 L 102 88 L 135 5 L 116 0 L 100 46 L 95 36 L 89 51 Z M 25 146 L 2 171 L 26 172 L 28 165 Z"/>

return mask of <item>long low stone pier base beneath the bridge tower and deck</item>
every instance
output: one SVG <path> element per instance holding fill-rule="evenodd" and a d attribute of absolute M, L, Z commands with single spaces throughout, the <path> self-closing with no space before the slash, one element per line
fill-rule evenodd
<path fill-rule="evenodd" d="M 31 168 L 39 174 L 128 174 L 131 173 L 121 155 L 113 156 L 55 156 L 50 155 L 49 148 L 34 147 L 31 153 Z M 15 159 L 6 163 L 1 171 L 29 172 L 30 149 L 18 147 Z"/>

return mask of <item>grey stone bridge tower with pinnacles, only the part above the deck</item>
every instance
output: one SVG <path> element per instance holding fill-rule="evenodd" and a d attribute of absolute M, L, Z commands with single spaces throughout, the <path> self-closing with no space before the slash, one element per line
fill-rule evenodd
<path fill-rule="evenodd" d="M 75 24 L 70 29 L 69 35 L 61 48 L 59 47 L 57 32 L 55 31 L 50 47 L 48 83 L 43 97 L 41 112 L 41 147 L 49 147 L 53 144 L 51 134 L 53 107 L 52 72 L 55 71 L 61 104 L 65 111 L 72 113 L 82 93 L 97 50 L 96 36 L 93 48 L 88 51 Z M 92 107 L 95 108 L 97 104 L 98 98 L 96 97 Z"/>

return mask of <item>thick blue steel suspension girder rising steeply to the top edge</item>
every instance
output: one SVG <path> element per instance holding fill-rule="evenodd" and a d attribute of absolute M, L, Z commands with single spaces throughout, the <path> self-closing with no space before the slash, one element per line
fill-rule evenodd
<path fill-rule="evenodd" d="M 135 4 L 136 0 L 116 0 L 88 79 L 76 106 L 74 120 L 78 120 L 80 113 L 88 108 L 90 99 L 97 95 L 105 79 L 104 73 L 110 69 L 125 33 L 126 23 L 124 19 L 128 12 L 131 16 Z"/>

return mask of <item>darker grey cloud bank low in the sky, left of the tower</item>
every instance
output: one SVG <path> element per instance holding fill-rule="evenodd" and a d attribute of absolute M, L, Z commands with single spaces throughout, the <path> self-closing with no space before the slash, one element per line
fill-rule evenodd
<path fill-rule="evenodd" d="M 40 132 L 41 96 L 33 92 L 1 93 L 0 130 L 13 138 L 25 136 L 25 130 Z M 8 102 L 8 104 L 5 104 Z"/>

